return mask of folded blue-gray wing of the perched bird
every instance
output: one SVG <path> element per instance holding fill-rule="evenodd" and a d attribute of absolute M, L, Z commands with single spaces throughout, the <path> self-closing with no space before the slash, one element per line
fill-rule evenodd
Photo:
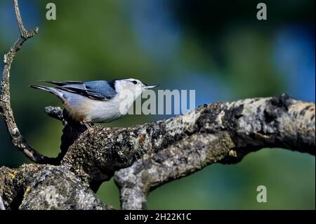
<path fill-rule="evenodd" d="M 63 91 L 84 95 L 93 100 L 110 100 L 116 95 L 113 81 L 54 81 L 53 84 Z"/>

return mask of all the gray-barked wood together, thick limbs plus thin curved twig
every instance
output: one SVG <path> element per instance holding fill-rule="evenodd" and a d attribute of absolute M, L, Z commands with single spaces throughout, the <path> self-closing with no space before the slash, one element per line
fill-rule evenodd
<path fill-rule="evenodd" d="M 0 115 L 13 144 L 35 164 L 0 168 L 0 209 L 113 209 L 94 194 L 114 176 L 122 209 L 146 209 L 155 187 L 213 163 L 235 164 L 249 152 L 282 147 L 315 156 L 315 104 L 282 94 L 197 107 L 182 116 L 131 128 L 86 126 L 66 110 L 60 154 L 48 158 L 22 137 L 10 105 L 9 72 L 27 32 L 14 0 L 21 37 L 4 56 Z"/>

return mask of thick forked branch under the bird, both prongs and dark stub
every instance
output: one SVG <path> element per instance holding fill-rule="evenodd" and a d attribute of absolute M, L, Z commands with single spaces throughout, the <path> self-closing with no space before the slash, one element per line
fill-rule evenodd
<path fill-rule="evenodd" d="M 48 111 L 60 115 L 60 110 Z M 146 196 L 155 187 L 209 164 L 235 164 L 263 147 L 315 155 L 315 104 L 287 95 L 213 103 L 131 128 L 93 126 L 74 133 L 80 126 L 68 120 L 65 110 L 63 119 L 65 154 L 58 167 L 72 171 L 95 192 L 117 171 L 122 209 L 145 209 Z M 72 133 L 76 137 L 70 140 Z"/>

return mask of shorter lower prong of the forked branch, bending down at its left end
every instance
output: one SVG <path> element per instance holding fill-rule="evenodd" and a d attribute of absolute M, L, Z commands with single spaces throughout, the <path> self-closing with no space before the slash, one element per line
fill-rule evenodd
<path fill-rule="evenodd" d="M 225 133 L 193 134 L 175 145 L 143 159 L 115 174 L 122 209 L 146 209 L 150 190 L 188 176 L 214 162 L 237 162 L 242 157 L 231 150 L 235 144 Z M 229 158 L 228 158 L 229 157 Z"/>

